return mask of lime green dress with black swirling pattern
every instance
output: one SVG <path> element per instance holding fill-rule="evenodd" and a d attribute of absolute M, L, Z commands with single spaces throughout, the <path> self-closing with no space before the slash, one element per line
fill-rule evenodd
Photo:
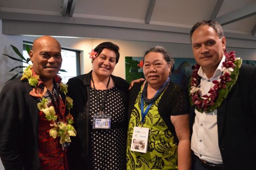
<path fill-rule="evenodd" d="M 134 126 L 141 126 L 141 91 L 139 92 L 134 109 L 130 116 L 127 139 L 127 169 L 128 170 L 176 170 L 178 168 L 177 145 L 174 136 L 158 113 L 158 103 L 161 96 L 151 105 L 145 123 L 142 127 L 149 128 L 148 151 L 140 153 L 131 151 L 132 133 Z M 147 108 L 144 103 L 144 110 Z"/>

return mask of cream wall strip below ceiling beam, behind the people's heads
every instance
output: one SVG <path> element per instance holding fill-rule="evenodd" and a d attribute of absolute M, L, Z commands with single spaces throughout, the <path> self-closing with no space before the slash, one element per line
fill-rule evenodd
<path fill-rule="evenodd" d="M 36 37 L 23 37 L 33 41 Z M 141 57 L 148 48 L 156 45 L 165 47 L 174 58 L 193 58 L 190 44 L 164 43 L 164 42 L 145 42 L 145 41 L 125 41 L 113 39 L 87 39 L 87 38 L 56 38 L 61 46 L 81 50 L 81 74 L 89 72 L 92 68 L 89 52 L 98 44 L 104 41 L 111 41 L 120 47 L 119 62 L 115 66 L 114 75 L 125 79 L 125 56 Z M 236 51 L 237 57 L 247 60 L 256 60 L 256 49 L 229 48 L 228 51 Z"/>

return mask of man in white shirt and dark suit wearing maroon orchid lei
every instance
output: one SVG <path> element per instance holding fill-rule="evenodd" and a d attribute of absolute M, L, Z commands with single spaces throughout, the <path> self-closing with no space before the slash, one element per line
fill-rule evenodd
<path fill-rule="evenodd" d="M 196 23 L 190 38 L 198 63 L 189 82 L 193 169 L 256 170 L 256 67 L 225 52 L 213 20 Z"/>

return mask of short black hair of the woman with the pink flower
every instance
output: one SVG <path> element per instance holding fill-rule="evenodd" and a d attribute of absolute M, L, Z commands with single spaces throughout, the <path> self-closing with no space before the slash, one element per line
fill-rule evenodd
<path fill-rule="evenodd" d="M 100 55 L 100 53 L 102 52 L 102 50 L 104 48 L 107 48 L 109 50 L 113 50 L 115 52 L 115 63 L 118 63 L 119 61 L 119 46 L 117 46 L 116 44 L 113 44 L 112 42 L 102 42 L 100 44 L 98 44 L 95 48 L 94 51 L 97 52 L 97 56 Z"/>

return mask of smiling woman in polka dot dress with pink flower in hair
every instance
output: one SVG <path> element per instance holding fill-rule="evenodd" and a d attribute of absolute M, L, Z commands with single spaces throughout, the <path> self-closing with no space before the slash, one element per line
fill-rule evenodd
<path fill-rule="evenodd" d="M 99 44 L 90 53 L 93 70 L 68 81 L 68 95 L 74 104 L 71 113 L 77 129 L 69 147 L 70 170 L 126 170 L 129 84 L 111 75 L 119 60 L 118 50 L 111 42 Z M 95 117 L 101 111 L 111 118 L 104 124 L 93 123 L 95 118 L 103 121 Z M 96 128 L 108 125 L 109 129 Z"/>

